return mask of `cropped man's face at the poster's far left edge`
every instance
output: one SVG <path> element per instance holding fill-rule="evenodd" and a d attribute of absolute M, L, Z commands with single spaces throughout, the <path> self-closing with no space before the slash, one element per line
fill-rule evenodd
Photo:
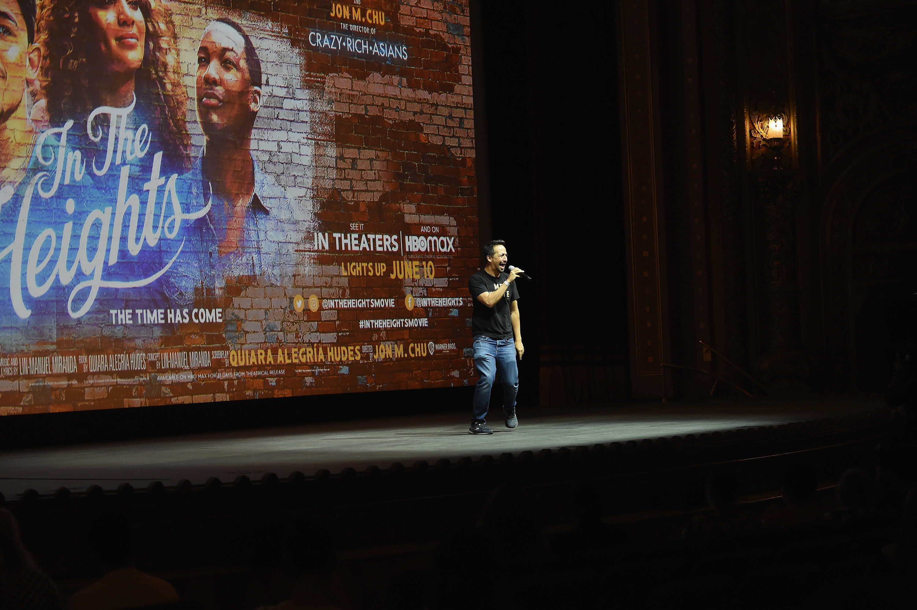
<path fill-rule="evenodd" d="M 16 0 L 0 0 L 0 124 L 22 103 L 27 65 L 26 19 Z"/>

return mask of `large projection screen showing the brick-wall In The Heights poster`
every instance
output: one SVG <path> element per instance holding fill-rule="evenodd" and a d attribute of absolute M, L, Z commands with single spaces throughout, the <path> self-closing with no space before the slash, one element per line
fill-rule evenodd
<path fill-rule="evenodd" d="M 0 414 L 468 385 L 467 0 L 260 4 L 0 0 Z"/>

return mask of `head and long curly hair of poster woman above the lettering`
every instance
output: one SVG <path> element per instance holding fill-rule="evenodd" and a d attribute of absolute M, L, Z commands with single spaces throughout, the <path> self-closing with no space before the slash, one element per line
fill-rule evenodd
<path fill-rule="evenodd" d="M 150 149 L 162 151 L 163 169 L 191 167 L 175 26 L 161 0 L 45 0 L 36 26 L 51 126 L 81 124 L 100 106 L 126 108 L 136 95 L 133 121 L 149 123 Z M 105 134 L 100 120 L 94 130 Z"/>

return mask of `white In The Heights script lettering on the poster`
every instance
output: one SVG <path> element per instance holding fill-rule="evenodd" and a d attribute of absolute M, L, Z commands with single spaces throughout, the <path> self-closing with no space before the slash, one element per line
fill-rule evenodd
<path fill-rule="evenodd" d="M 67 132 L 73 126 L 73 121 L 67 121 L 62 127 L 49 129 L 39 136 L 36 143 L 36 158 L 39 164 L 48 170 L 39 171 L 28 181 L 28 187 L 22 197 L 22 204 L 19 208 L 13 242 L 6 245 L 3 250 L 0 250 L 0 260 L 10 256 L 9 296 L 13 309 L 20 318 L 28 318 L 31 315 L 31 310 L 26 306 L 22 294 L 22 267 L 27 251 L 26 237 L 30 233 L 27 229 L 31 229 L 31 233 L 38 233 L 31 244 L 28 245 L 28 258 L 26 259 L 26 287 L 28 294 L 38 299 L 48 292 L 55 279 L 58 279 L 62 286 L 69 286 L 79 267 L 83 277 L 86 279 L 78 282 L 71 290 L 70 297 L 67 300 L 67 311 L 72 318 L 80 318 L 92 308 L 99 289 L 139 288 L 156 281 L 169 270 L 172 263 L 181 254 L 184 245 L 182 240 L 182 244 L 179 245 L 175 255 L 171 257 L 169 262 L 145 278 L 105 278 L 105 254 L 108 254 L 107 267 L 115 266 L 121 252 L 123 237 L 126 238 L 127 252 L 130 256 L 142 256 L 144 245 L 149 245 L 149 247 L 157 245 L 160 241 L 160 236 L 164 236 L 167 239 L 175 239 L 179 235 L 183 220 L 193 221 L 204 216 L 210 210 L 210 203 L 207 202 L 197 212 L 182 212 L 182 202 L 179 200 L 179 194 L 176 189 L 178 174 L 172 174 L 168 181 L 160 177 L 162 165 L 162 152 L 160 151 L 153 156 L 149 181 L 143 185 L 143 190 L 148 191 L 149 194 L 142 226 L 138 226 L 140 222 L 140 197 L 137 193 L 127 195 L 130 166 L 127 164 L 122 165 L 122 160 L 126 163 L 130 159 L 144 157 L 149 152 L 152 134 L 149 133 L 149 127 L 146 124 L 140 125 L 136 134 L 133 133 L 133 130 L 127 129 L 127 118 L 133 112 L 136 103 L 137 97 L 135 96 L 133 103 L 125 108 L 101 106 L 96 108 L 86 121 L 87 135 L 93 142 L 100 142 L 104 136 L 103 129 L 101 126 L 96 126 L 94 130 L 94 121 L 100 116 L 107 115 L 109 117 L 110 126 L 105 149 L 105 163 L 100 168 L 94 158 L 93 173 L 98 177 L 105 176 L 111 168 L 113 160 L 116 166 L 120 165 L 122 167 L 114 208 L 112 206 L 102 209 L 96 208 L 85 216 L 83 229 L 80 233 L 80 243 L 73 259 L 71 259 L 70 254 L 73 221 L 65 223 L 60 233 L 56 230 L 58 227 L 53 226 L 35 231 L 34 227 L 28 226 L 29 210 L 36 192 L 38 192 L 41 199 L 50 199 L 58 192 L 61 180 L 63 184 L 81 182 L 85 175 L 86 162 L 81 150 L 71 150 L 67 147 Z M 57 136 L 58 138 L 56 151 L 54 150 L 53 140 L 49 143 L 51 136 Z M 52 169 L 51 166 L 55 164 L 55 160 L 56 165 Z M 53 183 L 50 184 L 50 188 L 46 191 L 45 186 L 51 179 L 51 171 L 53 171 Z M 163 185 L 165 185 L 165 188 L 161 189 Z M 157 223 L 157 199 L 159 199 L 160 192 L 162 197 L 159 203 L 159 222 Z M 14 189 L 9 186 L 0 191 L 0 206 L 9 204 L 14 194 Z M 72 216 L 76 209 L 75 202 L 72 199 L 67 199 L 64 207 L 69 216 Z M 115 212 L 114 219 L 112 218 L 113 209 Z M 166 211 L 170 209 L 171 215 L 166 218 Z M 124 220 L 128 211 L 129 220 L 126 229 Z M 38 222 L 40 223 L 41 220 L 46 219 L 39 219 Z M 90 257 L 90 239 L 93 236 L 95 223 L 98 223 L 100 228 L 94 255 Z M 57 263 L 51 268 L 50 275 L 39 283 L 39 275 L 48 266 L 54 253 L 58 251 L 59 234 L 60 254 L 58 255 Z M 46 248 L 47 254 L 41 256 L 46 251 Z M 40 261 L 39 258 L 41 259 Z M 83 300 L 83 304 L 74 309 L 73 301 L 83 289 L 88 289 L 89 292 L 85 300 Z"/>

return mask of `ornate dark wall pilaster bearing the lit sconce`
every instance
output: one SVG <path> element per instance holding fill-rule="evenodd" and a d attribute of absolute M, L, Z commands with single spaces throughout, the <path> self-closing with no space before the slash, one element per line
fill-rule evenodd
<path fill-rule="evenodd" d="M 786 0 L 761 0 L 741 10 L 736 56 L 745 106 L 743 181 L 754 235 L 746 256 L 755 269 L 749 309 L 756 346 L 749 356 L 765 383 L 793 386 L 809 374 L 796 245 L 799 208 L 808 202 L 802 201 L 805 178 L 796 154 L 793 9 Z M 779 122 L 777 135 L 770 133 L 771 119 Z"/>

